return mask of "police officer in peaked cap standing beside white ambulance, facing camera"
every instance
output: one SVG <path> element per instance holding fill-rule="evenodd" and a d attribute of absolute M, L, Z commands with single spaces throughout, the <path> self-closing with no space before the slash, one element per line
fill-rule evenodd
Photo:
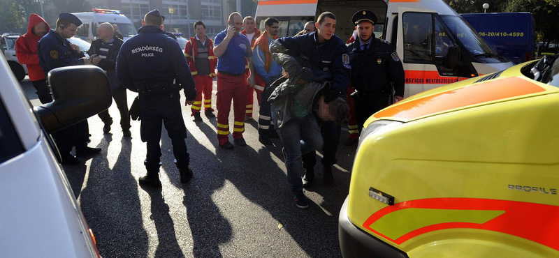
<path fill-rule="evenodd" d="M 377 15 L 360 10 L 351 18 L 358 40 L 349 43 L 351 86 L 358 130 L 380 109 L 404 98 L 405 73 L 400 57 L 386 40 L 375 38 Z M 394 93 L 394 98 L 391 96 Z"/>

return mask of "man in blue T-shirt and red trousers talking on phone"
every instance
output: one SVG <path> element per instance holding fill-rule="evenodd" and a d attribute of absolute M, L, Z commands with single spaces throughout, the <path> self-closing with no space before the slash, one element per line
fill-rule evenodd
<path fill-rule="evenodd" d="M 242 132 L 245 131 L 245 107 L 247 91 L 254 85 L 252 48 L 247 36 L 240 33 L 242 17 L 231 13 L 228 28 L 215 36 L 214 53 L 217 56 L 217 139 L 219 146 L 233 149 L 229 142 L 229 112 L 233 100 L 233 139 L 235 145 L 246 146 Z M 248 60 L 250 76 L 245 74 L 245 58 Z"/>

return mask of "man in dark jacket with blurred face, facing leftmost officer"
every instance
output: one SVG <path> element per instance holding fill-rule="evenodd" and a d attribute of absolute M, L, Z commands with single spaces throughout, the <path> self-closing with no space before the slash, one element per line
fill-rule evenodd
<path fill-rule="evenodd" d="M 92 42 L 91 47 L 87 51 L 92 57 L 93 64 L 105 70 L 109 78 L 110 90 L 112 91 L 112 98 L 115 99 L 117 107 L 120 111 L 120 127 L 122 127 L 122 135 L 130 137 L 130 116 L 128 115 L 128 104 L 126 103 L 126 88 L 120 84 L 117 73 L 115 70 L 118 50 L 124 43 L 120 38 L 114 36 L 113 28 L 110 23 L 105 22 L 99 24 L 97 28 L 97 40 Z M 99 113 L 99 118 L 105 123 L 103 132 L 110 131 L 112 118 L 110 117 L 109 110 Z"/>

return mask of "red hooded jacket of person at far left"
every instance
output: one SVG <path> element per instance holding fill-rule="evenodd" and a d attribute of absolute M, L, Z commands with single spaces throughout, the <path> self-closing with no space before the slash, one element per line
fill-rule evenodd
<path fill-rule="evenodd" d="M 45 79 L 45 72 L 39 64 L 39 56 L 37 54 L 37 43 L 41 38 L 31 32 L 33 26 L 40 22 L 45 22 L 45 19 L 35 13 L 31 13 L 31 15 L 29 15 L 27 33 L 23 34 L 15 41 L 15 55 L 17 56 L 17 61 L 27 66 L 29 80 L 32 82 Z M 50 30 L 48 23 L 45 22 L 45 24 L 47 24 L 47 28 Z"/>

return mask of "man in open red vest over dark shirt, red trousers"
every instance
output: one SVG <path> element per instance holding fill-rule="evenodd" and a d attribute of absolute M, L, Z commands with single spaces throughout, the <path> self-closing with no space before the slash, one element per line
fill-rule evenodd
<path fill-rule="evenodd" d="M 205 24 L 202 21 L 194 23 L 196 36 L 191 37 L 184 47 L 184 56 L 190 67 L 190 73 L 196 83 L 196 99 L 192 104 L 191 116 L 194 121 L 202 121 L 202 93 L 204 93 L 204 113 L 206 117 L 215 117 L 212 109 L 213 77 L 217 58 L 214 54 L 214 42 L 205 36 Z"/>

